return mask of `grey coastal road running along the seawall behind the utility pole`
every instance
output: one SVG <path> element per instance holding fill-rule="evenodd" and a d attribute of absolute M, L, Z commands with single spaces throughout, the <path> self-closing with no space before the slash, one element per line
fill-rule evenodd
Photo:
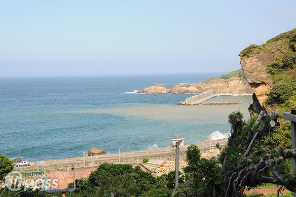
<path fill-rule="evenodd" d="M 225 145 L 227 143 L 227 138 L 220 140 L 219 142 L 212 142 L 212 147 L 215 146 L 217 143 L 219 143 L 220 145 Z M 202 147 L 209 147 L 210 146 L 210 141 L 206 141 L 206 142 L 202 142 L 202 143 L 195 143 L 196 146 L 198 146 L 199 148 Z M 188 146 L 180 146 L 180 151 L 185 151 L 187 150 Z M 120 158 L 126 158 L 126 157 L 134 157 L 134 156 L 139 156 L 139 157 L 145 157 L 147 155 L 150 154 L 160 154 L 160 153 L 167 153 L 167 152 L 172 152 L 172 155 L 175 154 L 175 149 L 171 148 L 171 147 L 167 147 L 165 148 L 159 148 L 159 149 L 149 149 L 146 150 L 145 152 L 143 151 L 134 151 L 134 152 L 126 152 L 126 153 L 120 153 Z M 86 161 L 91 161 L 91 160 L 101 160 L 101 159 L 110 159 L 110 158 L 118 158 L 118 153 L 117 154 L 107 154 L 107 155 L 102 155 L 102 157 L 100 156 L 100 158 L 91 158 L 91 157 L 85 157 Z M 33 161 L 31 162 L 31 166 L 38 166 L 38 165 L 47 165 L 47 164 L 52 164 L 52 163 L 69 163 L 72 161 L 84 161 L 83 157 L 80 158 L 69 158 L 69 159 L 57 159 L 56 162 L 53 162 L 54 160 L 44 160 L 44 162 L 42 161 L 42 163 L 38 162 L 38 161 Z"/>

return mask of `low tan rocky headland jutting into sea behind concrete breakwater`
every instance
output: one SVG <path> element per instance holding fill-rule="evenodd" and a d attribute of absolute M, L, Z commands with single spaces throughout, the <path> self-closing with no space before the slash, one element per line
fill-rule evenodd
<path fill-rule="evenodd" d="M 217 78 L 210 78 L 201 83 L 179 83 L 177 86 L 167 89 L 163 86 L 153 86 L 144 88 L 142 91 L 136 90 L 136 93 L 146 94 L 199 94 L 207 90 L 215 89 L 219 93 L 254 93 L 251 86 L 244 77 L 243 70 L 239 69 L 222 75 Z"/>

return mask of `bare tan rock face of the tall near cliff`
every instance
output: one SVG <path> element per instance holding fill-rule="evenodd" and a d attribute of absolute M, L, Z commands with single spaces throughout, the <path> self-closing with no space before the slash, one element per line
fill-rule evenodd
<path fill-rule="evenodd" d="M 272 89 L 272 81 L 267 79 L 267 65 L 273 61 L 274 54 L 262 52 L 254 57 L 240 60 L 244 75 L 254 90 L 260 106 L 265 109 L 264 100 Z"/>

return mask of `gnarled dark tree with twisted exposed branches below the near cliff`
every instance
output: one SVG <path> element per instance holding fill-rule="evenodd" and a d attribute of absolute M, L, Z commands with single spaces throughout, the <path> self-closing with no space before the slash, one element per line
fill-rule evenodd
<path fill-rule="evenodd" d="M 247 123 L 242 121 L 240 112 L 228 117 L 232 132 L 220 158 L 225 197 L 243 196 L 246 187 L 262 183 L 282 185 L 296 192 L 296 176 L 289 167 L 291 159 L 296 158 L 296 149 L 265 143 L 266 138 L 277 132 L 278 117 L 277 112 L 267 115 L 264 111 Z"/>

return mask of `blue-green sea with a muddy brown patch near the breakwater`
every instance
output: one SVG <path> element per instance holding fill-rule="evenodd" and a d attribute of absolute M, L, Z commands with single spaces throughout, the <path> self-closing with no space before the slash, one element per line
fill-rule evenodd
<path fill-rule="evenodd" d="M 178 106 L 182 94 L 134 94 L 153 83 L 201 82 L 225 73 L 131 76 L 0 78 L 0 153 L 22 160 L 82 157 L 96 147 L 107 153 L 226 137 L 227 116 L 238 109 L 247 120 L 251 96 L 211 101 L 243 105 Z"/>

